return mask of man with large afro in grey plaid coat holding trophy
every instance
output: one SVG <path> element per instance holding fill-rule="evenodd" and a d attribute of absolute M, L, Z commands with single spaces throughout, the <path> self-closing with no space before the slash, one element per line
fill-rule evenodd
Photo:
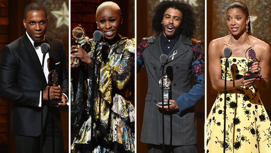
<path fill-rule="evenodd" d="M 146 67 L 148 76 L 140 140 L 148 144 L 149 152 L 162 152 L 161 54 L 168 55 L 163 76 L 171 82 L 169 100 L 165 100 L 171 105 L 164 106 L 164 151 L 197 152 L 194 105 L 204 97 L 204 50 L 202 42 L 192 38 L 195 28 L 191 5 L 162 1 L 152 18 L 157 35 L 143 38 L 137 48 L 137 72 Z"/>

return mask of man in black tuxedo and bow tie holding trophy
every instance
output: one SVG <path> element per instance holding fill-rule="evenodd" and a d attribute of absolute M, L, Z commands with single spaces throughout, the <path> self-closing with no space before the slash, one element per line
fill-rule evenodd
<path fill-rule="evenodd" d="M 58 39 L 45 37 L 48 24 L 43 5 L 31 3 L 25 7 L 25 34 L 1 50 L 0 98 L 14 101 L 11 127 L 15 135 L 16 152 L 40 152 L 41 98 L 45 102 L 61 99 L 57 105 L 46 104 L 43 109 L 43 150 L 63 152 L 62 125 L 59 106 L 65 106 L 68 95 L 68 70 L 64 46 Z M 42 72 L 41 43 L 50 45 Z M 49 87 L 47 76 L 56 70 L 58 86 Z M 41 81 L 44 88 L 41 90 Z M 49 92 L 48 92 L 49 90 Z M 43 97 L 41 97 L 43 92 Z"/>

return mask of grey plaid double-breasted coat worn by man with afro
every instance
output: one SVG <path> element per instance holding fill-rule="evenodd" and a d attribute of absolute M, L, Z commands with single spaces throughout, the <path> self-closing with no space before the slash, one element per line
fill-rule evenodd
<path fill-rule="evenodd" d="M 160 63 L 160 56 L 163 54 L 161 50 L 161 34 L 147 39 L 143 38 L 148 43 L 148 46 L 140 53 L 146 66 L 149 85 L 145 99 L 140 140 L 155 145 L 162 144 L 162 113 L 156 106 L 157 102 L 162 99 L 162 89 L 158 83 L 162 72 Z M 169 54 L 164 75 L 167 75 L 171 80 L 170 99 L 177 99 L 181 94 L 188 93 L 191 89 L 191 65 L 193 61 L 191 45 L 191 39 L 181 35 Z M 177 50 L 177 54 L 174 55 L 174 58 L 170 57 L 175 50 Z M 164 120 L 165 145 L 186 146 L 196 144 L 197 130 L 194 107 L 186 109 L 180 116 L 176 112 L 166 113 Z"/>

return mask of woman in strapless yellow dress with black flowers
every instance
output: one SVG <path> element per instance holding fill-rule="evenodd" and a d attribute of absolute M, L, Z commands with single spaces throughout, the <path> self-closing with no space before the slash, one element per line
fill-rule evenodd
<path fill-rule="evenodd" d="M 218 91 L 215 103 L 206 120 L 206 152 L 223 152 L 224 131 L 224 79 L 226 95 L 226 152 L 271 152 L 271 124 L 260 100 L 259 90 L 265 90 L 270 77 L 271 50 L 267 43 L 251 35 L 247 6 L 234 2 L 227 8 L 229 35 L 214 39 L 209 44 L 209 73 L 214 90 Z M 224 48 L 232 49 L 225 77 Z M 245 80 L 249 62 L 245 56 L 256 56 L 251 72 L 260 78 Z"/>

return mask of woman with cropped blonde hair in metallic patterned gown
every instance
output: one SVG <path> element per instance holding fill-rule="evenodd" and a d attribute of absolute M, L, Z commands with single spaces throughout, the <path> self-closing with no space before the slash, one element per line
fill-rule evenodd
<path fill-rule="evenodd" d="M 78 79 L 73 77 L 72 80 L 74 139 L 71 149 L 76 153 L 134 152 L 135 110 L 129 101 L 134 90 L 135 41 L 119 34 L 122 18 L 117 4 L 102 3 L 97 8 L 96 20 L 104 38 L 98 45 L 95 61 L 93 146 L 91 150 L 92 56 L 95 42 L 85 37 L 80 41 L 81 46 L 71 47 L 71 67 L 80 69 L 79 73 L 73 73 Z M 84 44 L 90 47 L 84 47 Z"/>

